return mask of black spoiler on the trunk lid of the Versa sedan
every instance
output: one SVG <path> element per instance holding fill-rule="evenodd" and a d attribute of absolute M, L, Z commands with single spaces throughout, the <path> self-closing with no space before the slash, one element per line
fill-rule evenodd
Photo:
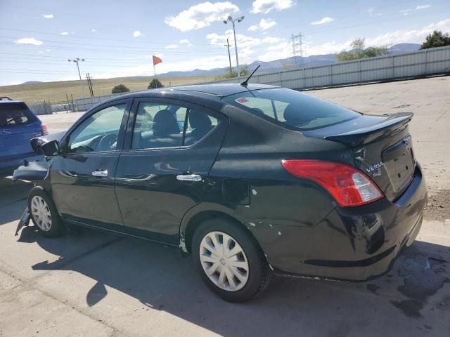
<path fill-rule="evenodd" d="M 380 121 L 380 123 L 357 128 L 338 135 L 326 136 L 325 139 L 334 140 L 335 142 L 350 146 L 363 145 L 400 131 L 406 127 L 406 124 L 408 124 L 412 118 L 413 113 L 411 112 L 398 112 L 390 114 L 386 119 Z"/>

